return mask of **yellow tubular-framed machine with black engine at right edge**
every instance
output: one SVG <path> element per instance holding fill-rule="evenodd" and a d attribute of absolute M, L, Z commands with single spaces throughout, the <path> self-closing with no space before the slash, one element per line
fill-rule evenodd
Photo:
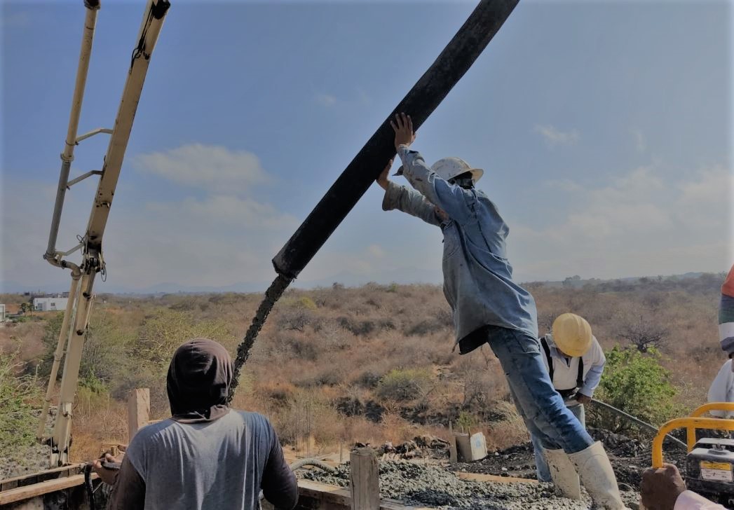
<path fill-rule="evenodd" d="M 709 411 L 734 412 L 734 403 L 712 402 L 687 418 L 675 418 L 661 426 L 653 440 L 653 467 L 663 466 L 663 440 L 670 431 L 686 429 L 686 486 L 694 492 L 734 508 L 734 439 L 704 437 L 696 429 L 734 431 L 734 420 L 702 418 Z"/>

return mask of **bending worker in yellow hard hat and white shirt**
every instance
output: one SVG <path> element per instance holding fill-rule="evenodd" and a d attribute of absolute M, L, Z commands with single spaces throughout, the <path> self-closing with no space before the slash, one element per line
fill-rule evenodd
<path fill-rule="evenodd" d="M 592 335 L 591 326 L 585 318 L 575 313 L 562 313 L 553 321 L 551 333 L 540 338 L 540 345 L 543 363 L 553 387 L 570 412 L 586 428 L 584 404 L 591 402 L 606 364 L 604 351 Z M 551 470 L 558 462 L 556 451 L 543 448 L 535 434 L 531 434 L 531 440 L 538 480 L 553 481 Z M 564 492 L 580 491 L 576 473 L 566 473 L 564 480 L 556 480 L 556 483 L 568 484 Z"/>

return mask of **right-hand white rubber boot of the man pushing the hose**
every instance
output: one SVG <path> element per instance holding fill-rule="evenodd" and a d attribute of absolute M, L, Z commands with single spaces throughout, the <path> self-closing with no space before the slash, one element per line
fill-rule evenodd
<path fill-rule="evenodd" d="M 569 453 L 568 458 L 576 467 L 581 483 L 599 509 L 626 510 L 619 495 L 617 478 L 611 468 L 604 446 L 597 441 L 586 450 Z M 552 472 L 551 472 L 552 473 Z"/>

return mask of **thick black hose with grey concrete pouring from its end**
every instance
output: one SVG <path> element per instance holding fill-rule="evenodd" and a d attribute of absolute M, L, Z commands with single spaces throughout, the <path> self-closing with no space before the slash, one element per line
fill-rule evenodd
<path fill-rule="evenodd" d="M 357 201 L 385 168 L 385 164 L 395 156 L 393 145 L 395 134 L 390 127 L 390 121 L 395 114 L 401 112 L 410 114 L 413 128 L 418 130 L 482 54 L 515 9 L 518 1 L 520 0 L 479 1 L 476 9 L 448 42 L 446 48 L 443 48 L 431 67 L 418 79 L 398 106 L 388 114 L 382 125 L 288 239 L 286 245 L 275 255 L 272 262 L 278 277 L 268 288 L 265 299 L 258 307 L 250 329 L 247 330 L 247 335 L 237 349 L 228 401 L 232 401 L 242 365 L 250 357 L 252 344 L 275 302 L 283 295 L 288 284 L 316 255 L 349 211 L 352 211 Z"/>

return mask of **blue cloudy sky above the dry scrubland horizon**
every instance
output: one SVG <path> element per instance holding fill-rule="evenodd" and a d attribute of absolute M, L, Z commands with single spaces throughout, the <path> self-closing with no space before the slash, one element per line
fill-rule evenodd
<path fill-rule="evenodd" d="M 2 4 L 5 290 L 42 260 L 84 7 Z M 473 2 L 173 1 L 105 234 L 99 291 L 264 287 L 270 259 L 431 65 Z M 111 127 L 143 1 L 103 1 L 80 131 Z M 418 132 L 460 156 L 510 226 L 520 281 L 723 271 L 734 261 L 730 1 L 522 0 Z M 76 148 L 101 167 L 106 137 Z M 96 182 L 68 194 L 59 248 Z M 376 185 L 298 280 L 440 282 L 440 231 Z"/>

